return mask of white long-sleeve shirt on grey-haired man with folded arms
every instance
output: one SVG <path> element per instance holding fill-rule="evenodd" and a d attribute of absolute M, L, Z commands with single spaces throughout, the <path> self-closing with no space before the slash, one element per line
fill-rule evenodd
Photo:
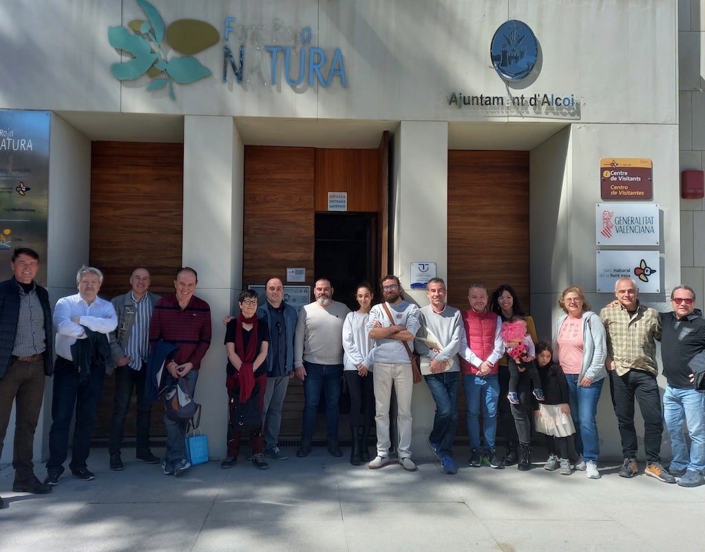
<path fill-rule="evenodd" d="M 79 317 L 78 324 L 71 318 Z M 73 360 L 71 345 L 76 340 L 85 339 L 85 328 L 94 332 L 109 334 L 118 326 L 118 317 L 110 301 L 96 297 L 89 305 L 79 293 L 62 297 L 54 307 L 54 327 L 56 328 L 56 354 Z"/>

